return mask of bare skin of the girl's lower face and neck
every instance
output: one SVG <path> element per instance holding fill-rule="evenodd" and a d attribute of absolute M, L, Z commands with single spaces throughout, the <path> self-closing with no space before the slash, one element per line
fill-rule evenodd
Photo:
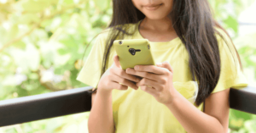
<path fill-rule="evenodd" d="M 172 27 L 172 19 L 168 14 L 172 11 L 172 0 L 132 0 L 146 18 L 140 25 L 140 33 L 150 42 L 169 42 L 177 37 Z M 148 10 L 147 6 L 161 4 L 156 10 Z"/>

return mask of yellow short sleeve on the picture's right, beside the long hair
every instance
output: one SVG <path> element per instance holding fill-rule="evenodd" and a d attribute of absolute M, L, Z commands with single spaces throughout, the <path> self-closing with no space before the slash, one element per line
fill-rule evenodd
<path fill-rule="evenodd" d="M 236 55 L 236 47 L 233 46 L 230 37 L 227 36 L 224 30 L 218 29 L 218 31 L 223 36 L 223 38 L 217 36 L 221 69 L 217 86 L 212 93 L 224 91 L 228 88 L 241 89 L 248 85 L 248 80 L 241 71 L 239 59 Z"/>

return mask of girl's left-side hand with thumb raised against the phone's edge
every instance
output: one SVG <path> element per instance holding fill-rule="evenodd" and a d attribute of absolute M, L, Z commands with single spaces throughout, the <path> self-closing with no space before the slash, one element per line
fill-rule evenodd
<path fill-rule="evenodd" d="M 127 90 L 128 86 L 137 90 L 138 86 L 131 82 L 131 80 L 137 83 L 141 79 L 137 76 L 126 74 L 119 64 L 119 57 L 114 55 L 112 66 L 106 70 L 99 81 L 98 91 Z"/>

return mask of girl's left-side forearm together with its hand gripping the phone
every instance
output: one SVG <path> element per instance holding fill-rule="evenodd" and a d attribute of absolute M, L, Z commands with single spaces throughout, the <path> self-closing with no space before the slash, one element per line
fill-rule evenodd
<path fill-rule="evenodd" d="M 137 83 L 140 80 L 141 78 L 138 78 L 136 75 L 125 73 L 125 70 L 119 64 L 118 56 L 113 56 L 112 66 L 106 70 L 99 80 L 97 92 L 91 95 L 91 109 L 88 119 L 88 130 L 90 133 L 114 132 L 111 92 L 113 88 L 127 90 L 128 86 L 137 90 L 138 86 L 131 81 Z M 101 125 L 101 128 L 99 128 L 99 125 Z"/>

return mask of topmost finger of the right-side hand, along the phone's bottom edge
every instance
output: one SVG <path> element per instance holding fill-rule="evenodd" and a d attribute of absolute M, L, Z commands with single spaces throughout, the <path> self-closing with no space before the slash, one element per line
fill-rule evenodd
<path fill-rule="evenodd" d="M 137 71 L 150 72 L 158 75 L 162 75 L 166 73 L 165 69 L 161 69 L 160 67 L 157 67 L 154 65 L 136 65 L 134 69 Z"/>

